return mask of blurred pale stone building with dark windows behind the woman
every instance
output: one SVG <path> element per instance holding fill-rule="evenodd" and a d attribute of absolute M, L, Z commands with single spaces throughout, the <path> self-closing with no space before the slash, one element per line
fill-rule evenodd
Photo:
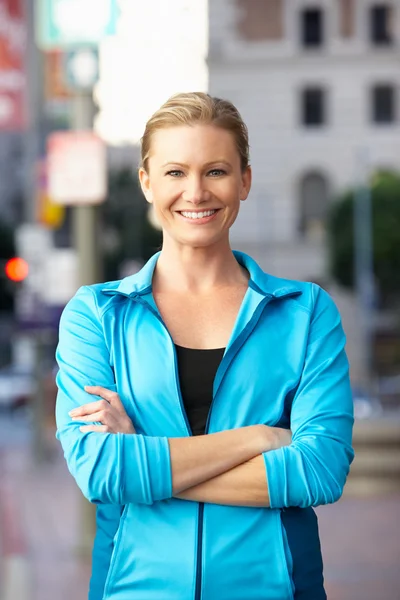
<path fill-rule="evenodd" d="M 400 167 L 400 2 L 212 0 L 209 91 L 250 133 L 253 188 L 232 241 L 282 277 L 335 297 L 354 379 L 362 339 L 351 295 L 329 281 L 329 203 L 368 169 Z"/>

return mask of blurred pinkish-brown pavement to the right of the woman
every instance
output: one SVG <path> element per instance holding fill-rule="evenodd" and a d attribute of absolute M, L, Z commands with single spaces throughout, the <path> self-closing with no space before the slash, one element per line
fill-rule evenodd
<path fill-rule="evenodd" d="M 400 494 L 317 508 L 328 600 L 400 600 Z"/>

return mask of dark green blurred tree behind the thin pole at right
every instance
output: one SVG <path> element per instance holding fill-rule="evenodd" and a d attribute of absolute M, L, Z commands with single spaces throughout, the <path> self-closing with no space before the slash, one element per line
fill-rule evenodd
<path fill-rule="evenodd" d="M 382 308 L 400 298 L 400 174 L 379 171 L 371 178 L 374 277 Z M 356 190 L 345 192 L 332 204 L 328 219 L 331 273 L 338 283 L 353 289 L 354 201 Z"/>

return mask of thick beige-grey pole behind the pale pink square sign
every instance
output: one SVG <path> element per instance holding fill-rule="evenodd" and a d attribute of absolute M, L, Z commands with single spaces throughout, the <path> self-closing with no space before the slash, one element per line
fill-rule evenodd
<path fill-rule="evenodd" d="M 93 100 L 92 92 L 78 91 L 73 97 L 72 128 L 92 129 Z M 91 285 L 101 279 L 100 255 L 97 244 L 97 206 L 74 206 L 72 208 L 72 226 L 74 247 L 78 257 L 78 284 Z M 80 541 L 78 552 L 89 559 L 96 532 L 96 509 L 93 504 L 81 496 Z"/>

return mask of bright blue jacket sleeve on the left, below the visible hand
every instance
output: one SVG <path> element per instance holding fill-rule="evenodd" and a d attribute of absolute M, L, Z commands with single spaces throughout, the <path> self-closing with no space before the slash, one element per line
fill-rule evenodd
<path fill-rule="evenodd" d="M 68 413 L 93 401 L 85 385 L 116 389 L 96 298 L 83 287 L 65 307 L 57 348 L 57 438 L 83 494 L 98 504 L 152 504 L 171 498 L 167 438 L 138 434 L 82 433 Z"/>

